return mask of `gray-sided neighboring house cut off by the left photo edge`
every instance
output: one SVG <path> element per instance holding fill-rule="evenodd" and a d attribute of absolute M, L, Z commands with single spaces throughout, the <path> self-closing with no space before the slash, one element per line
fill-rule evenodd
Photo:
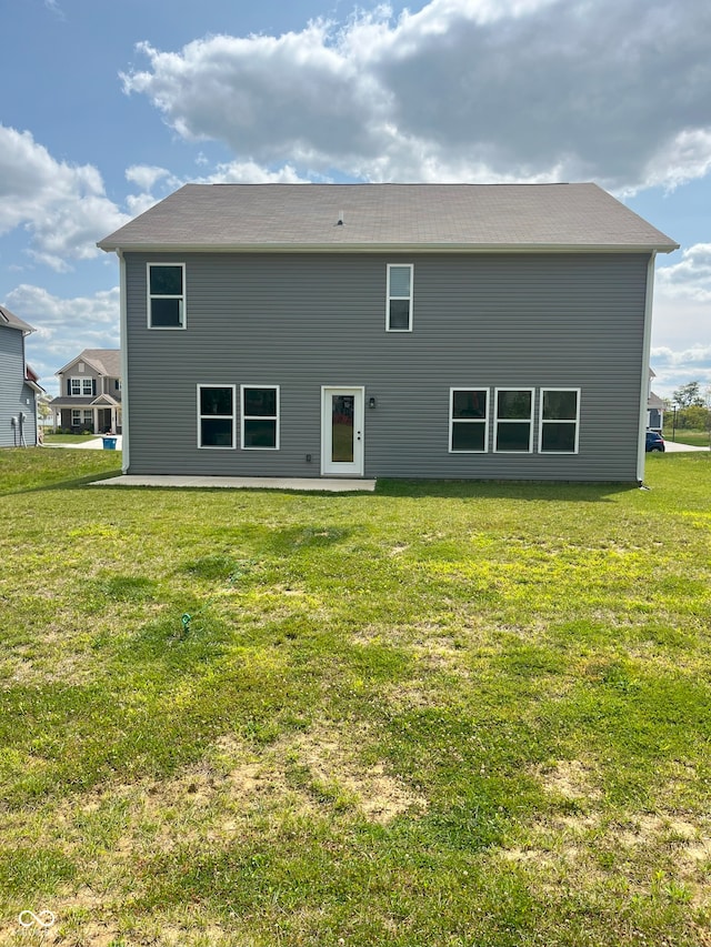
<path fill-rule="evenodd" d="M 0 306 L 0 447 L 38 443 L 37 399 L 44 389 L 24 360 L 24 339 L 31 332 L 31 325 Z"/>

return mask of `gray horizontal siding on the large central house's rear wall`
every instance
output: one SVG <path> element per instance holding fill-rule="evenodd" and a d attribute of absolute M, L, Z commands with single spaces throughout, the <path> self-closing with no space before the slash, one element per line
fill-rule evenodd
<path fill-rule="evenodd" d="M 187 330 L 147 329 L 147 260 L 186 262 Z M 414 329 L 387 333 L 410 262 Z M 321 385 L 364 385 L 367 476 L 633 481 L 647 262 L 127 254 L 131 473 L 318 476 Z M 280 385 L 280 451 L 199 450 L 198 383 Z M 452 386 L 580 387 L 579 454 L 450 454 Z"/>

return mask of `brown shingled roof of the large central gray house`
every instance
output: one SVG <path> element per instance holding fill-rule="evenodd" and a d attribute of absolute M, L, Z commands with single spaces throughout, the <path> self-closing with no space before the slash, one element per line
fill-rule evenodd
<path fill-rule="evenodd" d="M 98 245 L 669 253 L 679 244 L 597 184 L 186 184 Z"/>

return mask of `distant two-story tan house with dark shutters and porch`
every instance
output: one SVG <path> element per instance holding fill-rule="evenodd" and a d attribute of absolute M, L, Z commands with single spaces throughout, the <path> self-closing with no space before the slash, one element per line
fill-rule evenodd
<path fill-rule="evenodd" d="M 84 349 L 57 372 L 59 395 L 50 402 L 58 427 L 81 433 L 121 433 L 121 353 Z"/>

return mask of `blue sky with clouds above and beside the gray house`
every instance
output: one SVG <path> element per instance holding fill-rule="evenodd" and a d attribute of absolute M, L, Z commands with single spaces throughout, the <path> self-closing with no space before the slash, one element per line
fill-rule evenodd
<path fill-rule="evenodd" d="M 0 0 L 0 302 L 119 344 L 96 241 L 188 181 L 597 181 L 660 256 L 655 391 L 711 386 L 708 0 Z"/>

